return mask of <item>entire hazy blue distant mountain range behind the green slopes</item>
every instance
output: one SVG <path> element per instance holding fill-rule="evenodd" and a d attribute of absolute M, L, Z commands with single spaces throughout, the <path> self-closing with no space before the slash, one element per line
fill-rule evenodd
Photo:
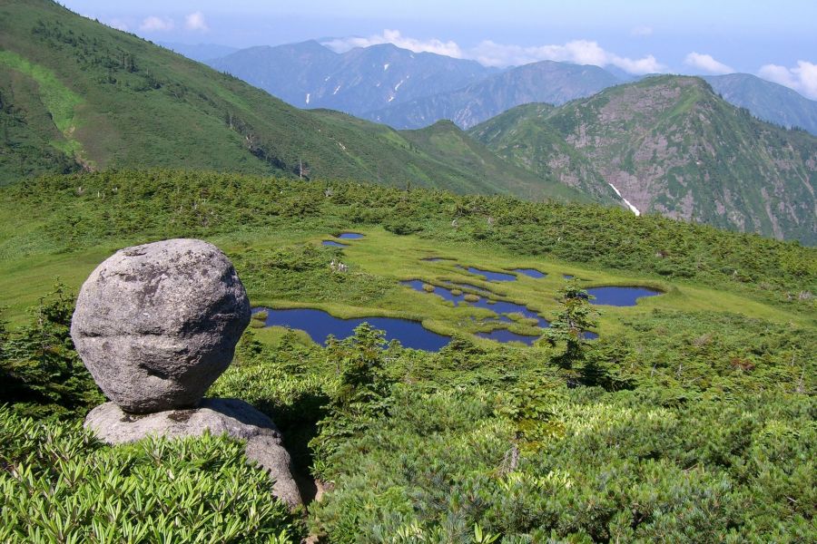
<path fill-rule="evenodd" d="M 299 108 L 340 110 L 396 129 L 443 119 L 468 129 L 521 104 L 559 105 L 638 79 L 620 70 L 551 61 L 499 71 L 391 44 L 334 53 L 310 41 L 252 47 L 218 59 L 193 53 Z M 746 73 L 704 79 L 726 102 L 758 119 L 817 134 L 817 102 L 791 89 Z"/>

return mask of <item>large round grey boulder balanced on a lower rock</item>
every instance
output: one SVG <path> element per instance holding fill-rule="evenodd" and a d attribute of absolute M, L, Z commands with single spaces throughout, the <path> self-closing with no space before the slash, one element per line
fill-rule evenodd
<path fill-rule="evenodd" d="M 126 412 L 195 406 L 250 323 L 230 259 L 202 240 L 124 248 L 96 267 L 71 336 L 85 366 Z"/>

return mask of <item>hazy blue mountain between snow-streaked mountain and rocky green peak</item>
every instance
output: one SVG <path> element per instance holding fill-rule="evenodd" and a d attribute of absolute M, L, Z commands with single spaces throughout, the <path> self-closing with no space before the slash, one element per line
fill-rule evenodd
<path fill-rule="evenodd" d="M 440 119 L 468 129 L 520 104 L 563 104 L 617 83 L 621 81 L 597 66 L 543 61 L 494 74 L 456 91 L 389 104 L 363 116 L 398 129 L 416 129 Z"/>

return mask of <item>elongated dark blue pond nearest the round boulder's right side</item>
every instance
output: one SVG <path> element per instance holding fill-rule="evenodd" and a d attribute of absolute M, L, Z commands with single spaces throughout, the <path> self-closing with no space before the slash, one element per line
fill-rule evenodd
<path fill-rule="evenodd" d="M 439 351 L 448 345 L 448 336 L 432 333 L 423 328 L 417 321 L 396 319 L 394 317 L 359 317 L 356 319 L 340 319 L 330 314 L 312 308 L 293 308 L 289 310 L 274 310 L 272 308 L 255 308 L 253 311 L 266 311 L 266 326 L 278 325 L 301 329 L 316 343 L 326 345 L 326 337 L 335 335 L 336 338 L 346 338 L 354 334 L 356 326 L 363 322 L 375 328 L 386 331 L 386 340 L 399 340 L 400 344 L 412 349 L 425 351 Z"/>

